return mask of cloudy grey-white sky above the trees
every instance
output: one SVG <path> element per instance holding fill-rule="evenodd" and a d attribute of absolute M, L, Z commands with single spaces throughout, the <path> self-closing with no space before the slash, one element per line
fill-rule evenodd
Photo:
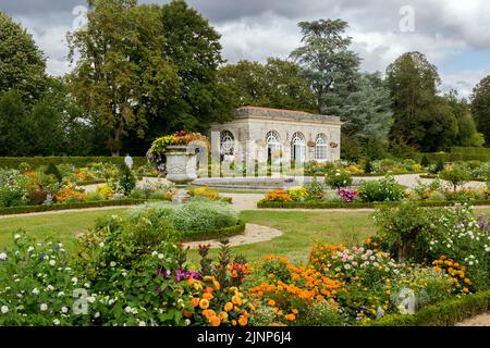
<path fill-rule="evenodd" d="M 164 0 L 140 2 L 164 3 Z M 286 58 L 299 46 L 297 23 L 343 18 L 363 69 L 385 71 L 401 53 L 427 54 L 442 77 L 441 90 L 468 96 L 490 74 L 489 0 L 188 0 L 222 35 L 229 62 Z M 79 23 L 85 0 L 0 0 L 48 57 L 49 73 L 62 75 L 65 34 Z"/>

